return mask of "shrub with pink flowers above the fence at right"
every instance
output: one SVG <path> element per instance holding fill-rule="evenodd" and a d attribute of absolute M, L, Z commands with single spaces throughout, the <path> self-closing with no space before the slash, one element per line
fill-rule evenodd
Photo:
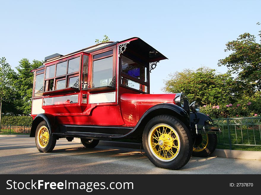
<path fill-rule="evenodd" d="M 203 105 L 200 112 L 209 115 L 211 118 L 237 118 L 237 117 L 260 117 L 261 96 L 244 99 L 231 104 Z"/>

